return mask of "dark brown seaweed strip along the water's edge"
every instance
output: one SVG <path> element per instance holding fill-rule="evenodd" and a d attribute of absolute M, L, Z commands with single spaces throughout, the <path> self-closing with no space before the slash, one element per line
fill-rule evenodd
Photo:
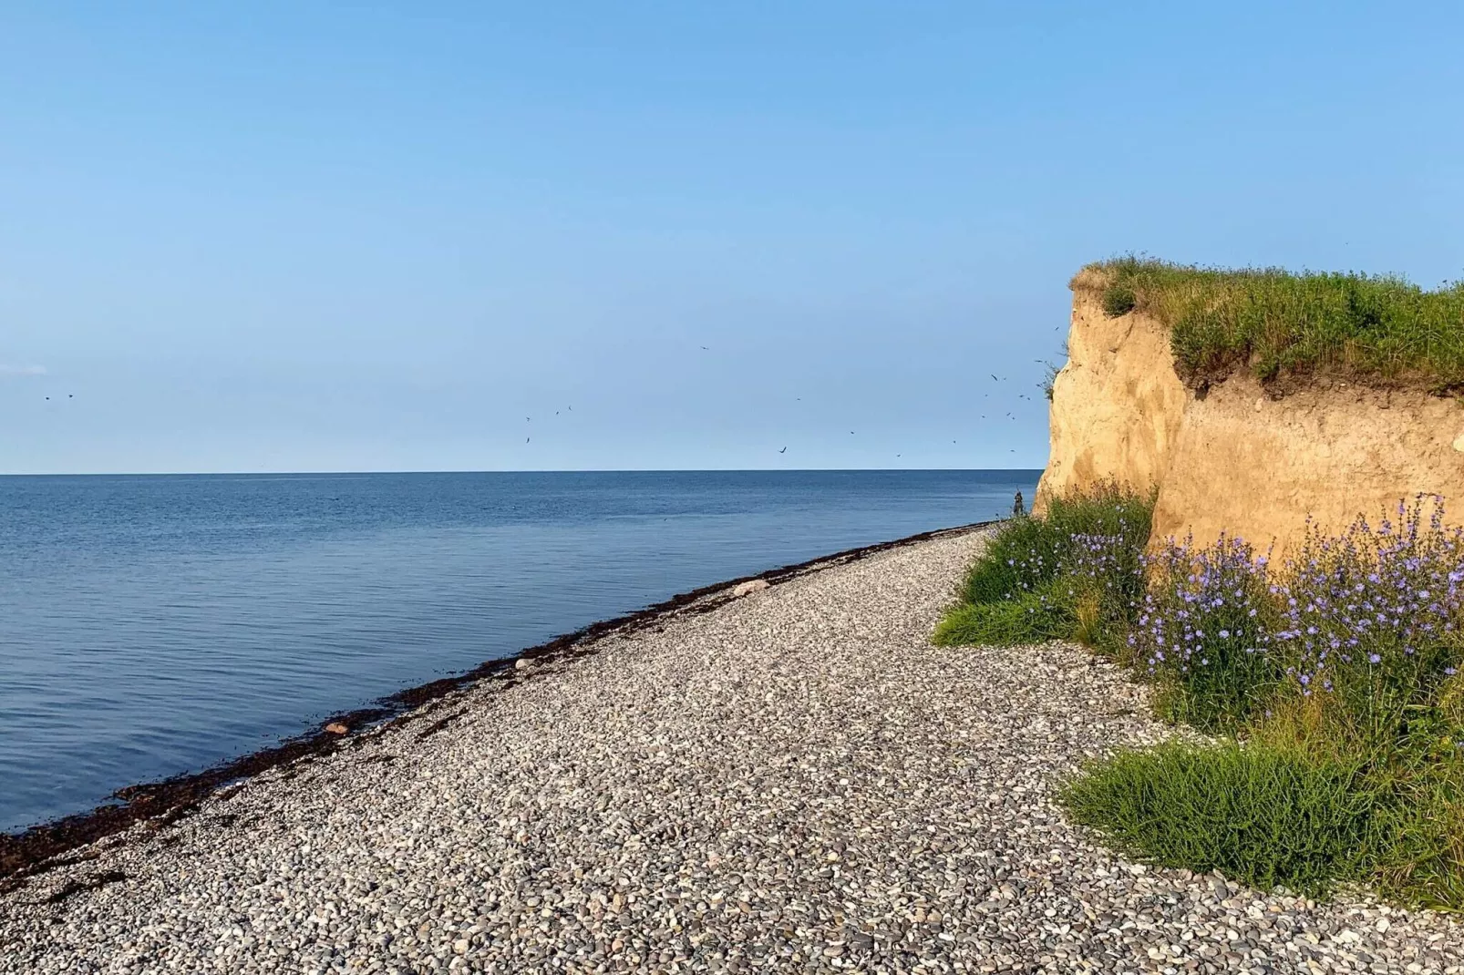
<path fill-rule="evenodd" d="M 287 738 L 271 748 L 262 748 L 202 772 L 183 773 L 161 782 L 126 786 L 113 793 L 113 798 L 122 801 L 120 805 L 101 805 L 89 812 L 67 815 L 32 826 L 19 833 L 0 834 L 0 881 L 4 881 L 0 883 L 0 893 L 13 890 L 25 877 L 75 862 L 75 859 L 63 858 L 63 853 L 79 846 L 114 836 L 143 821 L 151 821 L 155 826 L 176 823 L 184 815 L 195 812 L 203 799 L 243 779 L 291 763 L 309 761 L 340 748 L 359 747 L 365 741 L 360 735 L 347 733 L 343 736 L 328 732 L 325 731 L 326 725 L 344 725 L 350 732 L 366 729 L 381 732 L 430 713 L 445 703 L 451 694 L 479 681 L 498 679 L 507 685 L 518 684 L 526 679 L 526 675 L 533 673 L 531 670 L 524 672 L 517 669 L 515 665 L 520 659 L 548 660 L 586 656 L 596 651 L 596 640 L 610 632 L 643 630 L 682 612 L 710 612 L 733 599 L 731 590 L 738 583 L 766 580 L 769 584 L 776 586 L 798 575 L 855 562 L 875 552 L 897 549 L 930 539 L 963 534 L 991 524 L 996 524 L 996 521 L 974 521 L 953 528 L 921 531 L 903 539 L 845 549 L 843 552 L 821 555 L 807 562 L 767 569 L 757 575 L 742 575 L 723 583 L 703 586 L 688 593 L 678 593 L 646 609 L 593 622 L 583 630 L 562 634 L 534 647 L 527 647 L 514 656 L 485 660 L 464 673 L 397 691 L 378 700 L 370 707 L 334 714 L 322 722 L 321 729 Z M 441 719 L 423 732 L 420 738 L 439 731 L 452 717 L 457 717 L 457 714 Z"/>

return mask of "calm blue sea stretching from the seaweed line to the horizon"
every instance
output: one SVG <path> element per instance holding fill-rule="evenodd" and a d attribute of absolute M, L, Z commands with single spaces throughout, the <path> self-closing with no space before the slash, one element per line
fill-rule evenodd
<path fill-rule="evenodd" d="M 0 830 L 1038 473 L 0 477 Z"/>

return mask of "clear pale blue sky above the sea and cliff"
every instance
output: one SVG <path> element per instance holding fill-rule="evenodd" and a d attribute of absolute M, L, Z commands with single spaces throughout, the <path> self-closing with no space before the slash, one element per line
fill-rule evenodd
<path fill-rule="evenodd" d="M 0 471 L 1041 467 L 1086 261 L 1464 277 L 1461 35 L 3 4 Z"/>

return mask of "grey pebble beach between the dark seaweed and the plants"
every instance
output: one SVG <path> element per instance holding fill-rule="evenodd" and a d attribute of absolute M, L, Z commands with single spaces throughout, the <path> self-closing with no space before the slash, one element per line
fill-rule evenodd
<path fill-rule="evenodd" d="M 1069 827 L 1056 782 L 1165 731 L 1078 647 L 930 646 L 981 537 L 694 605 L 76 851 L 0 894 L 0 972 L 1464 971 L 1442 915 Z"/>

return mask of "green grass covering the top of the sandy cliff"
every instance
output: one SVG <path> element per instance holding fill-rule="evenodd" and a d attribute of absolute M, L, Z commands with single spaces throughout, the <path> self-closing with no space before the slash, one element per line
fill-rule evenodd
<path fill-rule="evenodd" d="M 1120 258 L 1088 265 L 1073 287 L 1098 290 L 1108 315 L 1138 309 L 1167 325 L 1189 382 L 1250 367 L 1265 382 L 1326 373 L 1464 386 L 1464 283 L 1424 291 L 1397 277 Z"/>

